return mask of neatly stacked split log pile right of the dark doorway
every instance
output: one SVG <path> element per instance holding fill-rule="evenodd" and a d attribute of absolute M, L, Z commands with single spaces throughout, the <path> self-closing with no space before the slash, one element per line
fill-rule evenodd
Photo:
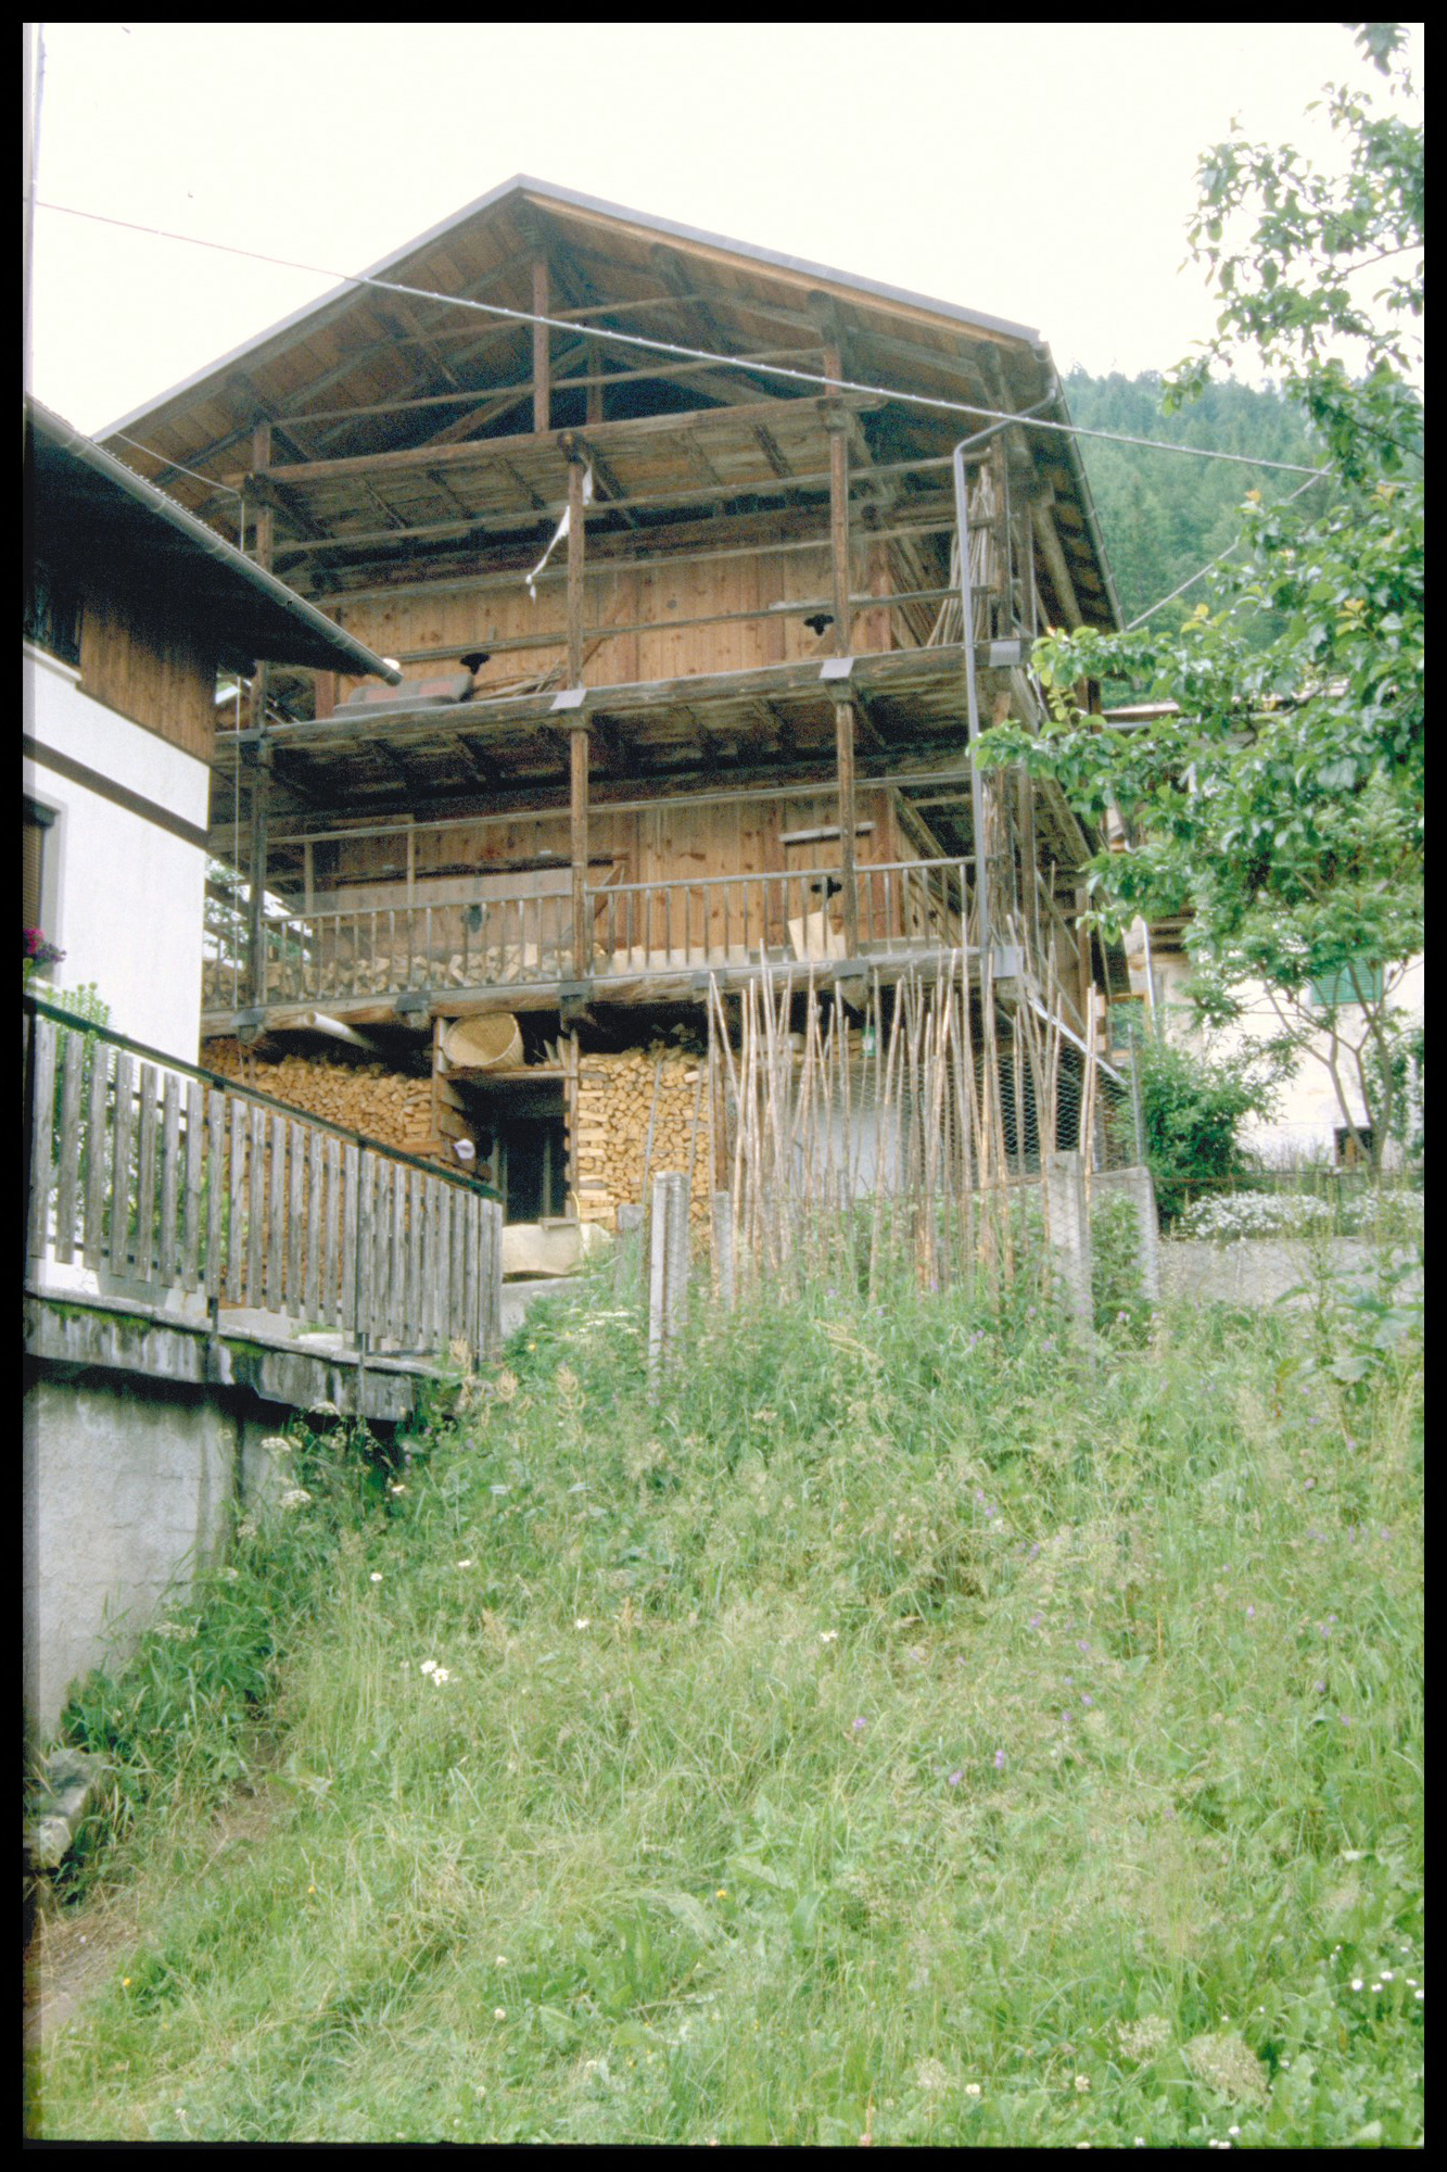
<path fill-rule="evenodd" d="M 580 1056 L 571 1149 L 580 1221 L 615 1227 L 617 1208 L 641 1201 L 665 1169 L 693 1173 L 691 1212 L 702 1221 L 713 1190 L 706 1060 L 663 1043 Z"/>

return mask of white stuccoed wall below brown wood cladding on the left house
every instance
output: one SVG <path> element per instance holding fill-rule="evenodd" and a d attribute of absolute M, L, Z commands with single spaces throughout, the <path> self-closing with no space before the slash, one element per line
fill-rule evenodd
<path fill-rule="evenodd" d="M 206 828 L 211 771 L 154 732 L 80 693 L 78 673 L 24 652 L 24 730 L 196 830 Z M 143 815 L 26 758 L 24 788 L 56 808 L 46 841 L 43 927 L 65 958 L 59 988 L 96 982 L 111 1025 L 196 1062 L 200 1045 L 206 856 Z"/>

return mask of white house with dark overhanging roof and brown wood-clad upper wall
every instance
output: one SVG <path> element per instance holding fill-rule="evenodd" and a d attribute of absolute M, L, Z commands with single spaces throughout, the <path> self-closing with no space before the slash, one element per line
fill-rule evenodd
<path fill-rule="evenodd" d="M 400 673 L 37 400 L 26 515 L 24 925 L 196 1062 L 217 667 Z"/>

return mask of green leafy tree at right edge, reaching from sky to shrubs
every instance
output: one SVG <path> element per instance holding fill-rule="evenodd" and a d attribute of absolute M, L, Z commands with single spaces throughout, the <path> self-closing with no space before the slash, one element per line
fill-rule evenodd
<path fill-rule="evenodd" d="M 1410 98 L 1399 28 L 1362 26 L 1358 43 Z M 1130 849 L 1086 871 L 1099 923 L 1186 914 L 1201 1016 L 1243 1016 L 1264 986 L 1271 1051 L 1321 1058 L 1354 1132 L 1360 1095 L 1358 1142 L 1380 1166 L 1395 997 L 1423 947 L 1423 132 L 1345 89 L 1328 111 L 1341 174 L 1234 137 L 1201 159 L 1191 241 L 1221 313 L 1165 402 L 1199 400 L 1212 365 L 1254 350 L 1328 445 L 1332 502 L 1312 506 L 1325 484 L 1275 506 L 1249 491 L 1234 552 L 1178 628 L 1049 634 L 1034 652 L 1045 730 L 1002 725 L 984 758 L 1054 773 L 1097 821 L 1119 810 Z M 1362 272 L 1384 280 L 1375 295 Z M 1280 632 L 1260 643 L 1264 615 Z M 1106 680 L 1175 708 L 1108 728 L 1073 699 Z"/>

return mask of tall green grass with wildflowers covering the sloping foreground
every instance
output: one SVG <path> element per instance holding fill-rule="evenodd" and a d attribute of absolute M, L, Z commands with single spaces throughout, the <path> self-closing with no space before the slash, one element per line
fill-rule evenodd
<path fill-rule="evenodd" d="M 298 1440 L 269 1824 L 152 1790 L 39 2131 L 1421 2139 L 1419 1347 L 693 1318 L 650 1399 L 556 1301 L 372 1505 Z"/>

